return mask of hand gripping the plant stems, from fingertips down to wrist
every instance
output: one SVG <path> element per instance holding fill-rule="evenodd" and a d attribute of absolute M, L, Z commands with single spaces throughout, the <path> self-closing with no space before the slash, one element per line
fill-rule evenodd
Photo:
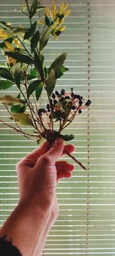
<path fill-rule="evenodd" d="M 34 208 L 41 207 L 44 211 L 55 205 L 55 213 L 58 211 L 55 197 L 57 182 L 61 178 L 70 178 L 74 170 L 74 165 L 67 161 L 58 161 L 64 148 L 69 153 L 74 151 L 73 145 L 64 146 L 62 138 L 58 138 L 52 147 L 46 141 L 18 161 L 16 169 L 21 202 L 32 204 Z"/>

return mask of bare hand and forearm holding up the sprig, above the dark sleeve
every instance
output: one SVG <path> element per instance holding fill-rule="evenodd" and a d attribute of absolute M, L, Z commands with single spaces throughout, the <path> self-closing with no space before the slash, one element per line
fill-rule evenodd
<path fill-rule="evenodd" d="M 52 147 L 48 141 L 18 161 L 19 201 L 0 230 L 7 234 L 22 256 L 40 256 L 48 232 L 58 218 L 55 190 L 61 178 L 71 178 L 74 165 L 58 161 L 64 148 L 71 153 L 73 145 L 64 146 L 58 138 Z"/>

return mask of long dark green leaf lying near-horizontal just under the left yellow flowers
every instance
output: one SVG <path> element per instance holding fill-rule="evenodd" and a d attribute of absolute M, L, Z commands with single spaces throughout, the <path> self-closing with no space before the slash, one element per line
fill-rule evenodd
<path fill-rule="evenodd" d="M 11 58 L 15 58 L 17 62 L 23 62 L 27 64 L 33 64 L 34 60 L 33 58 L 29 57 L 28 55 L 23 55 L 19 52 L 5 52 L 5 55 L 8 55 Z"/>

